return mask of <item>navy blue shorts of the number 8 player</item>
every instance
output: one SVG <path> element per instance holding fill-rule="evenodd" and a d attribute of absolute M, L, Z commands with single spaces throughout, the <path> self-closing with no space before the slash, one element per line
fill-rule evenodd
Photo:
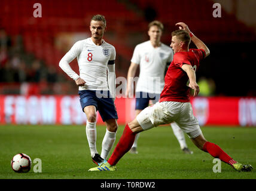
<path fill-rule="evenodd" d="M 117 109 L 109 91 L 81 90 L 78 94 L 83 112 L 84 107 L 95 106 L 96 110 L 99 110 L 102 121 L 118 119 Z"/>

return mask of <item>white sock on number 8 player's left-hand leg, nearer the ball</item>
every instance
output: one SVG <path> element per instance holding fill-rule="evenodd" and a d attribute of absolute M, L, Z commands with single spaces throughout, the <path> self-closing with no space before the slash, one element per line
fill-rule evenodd
<path fill-rule="evenodd" d="M 93 157 L 95 156 L 95 153 L 98 153 L 96 149 L 96 122 L 86 122 L 86 135 L 90 147 L 91 156 Z"/>

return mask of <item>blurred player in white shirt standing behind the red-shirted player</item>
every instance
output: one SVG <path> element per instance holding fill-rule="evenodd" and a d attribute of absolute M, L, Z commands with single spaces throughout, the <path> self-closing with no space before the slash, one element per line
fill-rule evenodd
<path fill-rule="evenodd" d="M 127 73 L 127 97 L 133 97 L 133 77 L 136 70 L 140 69 L 139 79 L 136 84 L 136 106 L 135 115 L 137 116 L 148 107 L 148 103 L 152 100 L 153 104 L 157 103 L 160 98 L 161 91 L 164 87 L 164 74 L 167 67 L 172 62 L 173 51 L 167 45 L 160 42 L 163 32 L 163 24 L 160 21 L 152 21 L 148 24 L 148 36 L 150 41 L 142 42 L 135 47 L 131 64 Z M 173 133 L 179 141 L 179 145 L 184 153 L 192 154 L 188 149 L 184 133 L 181 128 L 175 123 L 171 124 Z M 130 153 L 138 153 L 138 138 L 136 134 Z"/>

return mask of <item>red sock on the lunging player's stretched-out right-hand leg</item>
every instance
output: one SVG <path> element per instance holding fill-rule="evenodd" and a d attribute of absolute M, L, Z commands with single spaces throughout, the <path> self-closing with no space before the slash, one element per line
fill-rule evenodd
<path fill-rule="evenodd" d="M 230 156 L 228 156 L 227 153 L 225 153 L 221 149 L 221 147 L 219 147 L 217 144 L 206 142 L 203 145 L 203 150 L 205 152 L 208 152 L 214 158 L 219 158 L 219 159 L 221 159 L 221 161 L 223 161 L 223 162 L 225 162 L 229 165 L 232 165 L 232 164 L 236 163 L 236 161 L 234 161 Z"/>

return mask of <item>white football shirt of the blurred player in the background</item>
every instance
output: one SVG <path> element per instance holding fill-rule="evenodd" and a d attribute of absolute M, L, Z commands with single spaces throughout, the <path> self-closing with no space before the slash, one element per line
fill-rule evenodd
<path fill-rule="evenodd" d="M 136 45 L 132 62 L 139 64 L 139 79 L 136 92 L 160 94 L 164 87 L 166 64 L 173 59 L 172 48 L 161 43 L 154 48 L 150 41 Z"/>

